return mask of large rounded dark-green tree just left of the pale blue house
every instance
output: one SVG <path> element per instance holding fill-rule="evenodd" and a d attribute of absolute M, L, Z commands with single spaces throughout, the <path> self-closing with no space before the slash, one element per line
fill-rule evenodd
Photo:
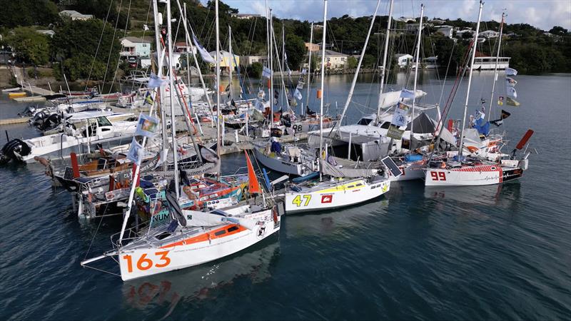
<path fill-rule="evenodd" d="M 54 60 L 63 61 L 66 76 L 72 80 L 112 78 L 121 43 L 113 37 L 111 24 L 100 19 L 66 19 L 55 31 L 51 55 Z"/>

